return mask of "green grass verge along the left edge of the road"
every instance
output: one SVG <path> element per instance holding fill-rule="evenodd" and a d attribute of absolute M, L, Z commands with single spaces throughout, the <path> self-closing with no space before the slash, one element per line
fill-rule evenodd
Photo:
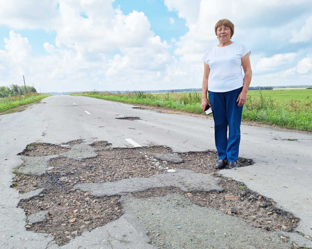
<path fill-rule="evenodd" d="M 26 95 L 17 95 L 12 97 L 0 98 L 0 112 L 42 100 L 47 96 L 50 95 L 30 92 L 27 93 Z"/>

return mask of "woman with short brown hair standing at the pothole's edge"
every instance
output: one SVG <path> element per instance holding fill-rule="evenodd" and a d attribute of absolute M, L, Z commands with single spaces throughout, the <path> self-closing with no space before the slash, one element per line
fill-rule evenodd
<path fill-rule="evenodd" d="M 209 105 L 213 110 L 219 156 L 215 168 L 222 169 L 228 163 L 229 169 L 232 169 L 237 167 L 241 114 L 251 82 L 250 50 L 231 40 L 234 25 L 227 19 L 217 22 L 215 33 L 219 44 L 208 49 L 204 55 L 201 108 L 205 110 Z M 241 67 L 244 69 L 244 77 Z"/>

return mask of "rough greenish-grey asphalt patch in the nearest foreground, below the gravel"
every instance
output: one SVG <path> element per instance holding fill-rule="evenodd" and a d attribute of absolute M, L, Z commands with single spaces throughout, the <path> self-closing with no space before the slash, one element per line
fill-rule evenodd
<path fill-rule="evenodd" d="M 200 207 L 182 195 L 121 199 L 126 214 L 144 224 L 157 248 L 290 248 L 278 232 L 255 228 L 216 209 Z"/>

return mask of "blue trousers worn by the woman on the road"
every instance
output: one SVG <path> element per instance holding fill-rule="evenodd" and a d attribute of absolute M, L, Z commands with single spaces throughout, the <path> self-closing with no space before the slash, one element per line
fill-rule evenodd
<path fill-rule="evenodd" d="M 208 91 L 215 123 L 215 142 L 220 160 L 236 162 L 241 141 L 241 114 L 243 106 L 236 102 L 243 87 L 229 92 Z M 227 127 L 229 136 L 227 137 Z"/>

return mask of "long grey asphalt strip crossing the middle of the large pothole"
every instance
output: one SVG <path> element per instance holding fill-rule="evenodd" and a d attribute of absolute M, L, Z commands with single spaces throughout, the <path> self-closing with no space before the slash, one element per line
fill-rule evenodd
<path fill-rule="evenodd" d="M 177 187 L 182 191 L 188 192 L 221 192 L 223 190 L 217 185 L 217 179 L 213 176 L 183 169 L 178 169 L 174 173 L 163 173 L 150 177 L 134 177 L 116 182 L 81 183 L 76 184 L 73 188 L 89 192 L 96 197 L 101 197 L 164 187 Z"/>

